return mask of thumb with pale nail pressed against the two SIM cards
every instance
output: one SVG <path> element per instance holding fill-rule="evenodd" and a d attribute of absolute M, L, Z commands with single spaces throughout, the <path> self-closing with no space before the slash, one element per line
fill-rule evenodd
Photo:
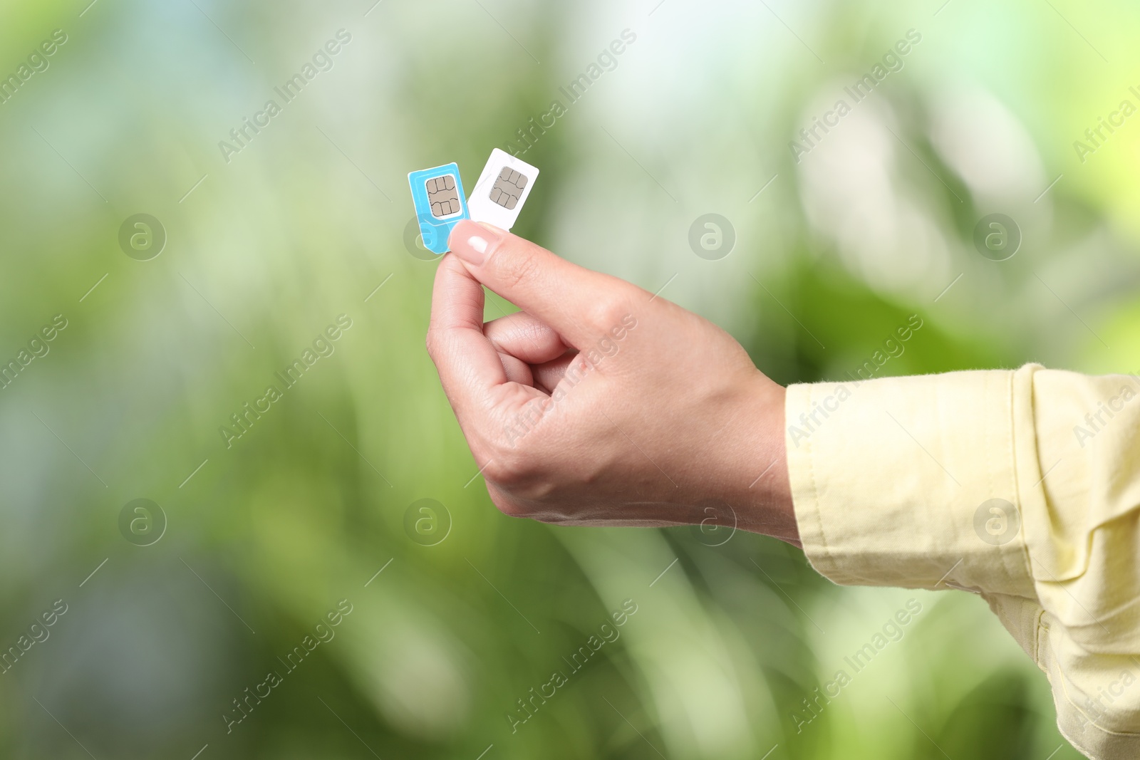
<path fill-rule="evenodd" d="M 594 343 L 644 294 L 483 222 L 459 222 L 449 244 L 472 277 L 553 327 L 576 349 Z"/>

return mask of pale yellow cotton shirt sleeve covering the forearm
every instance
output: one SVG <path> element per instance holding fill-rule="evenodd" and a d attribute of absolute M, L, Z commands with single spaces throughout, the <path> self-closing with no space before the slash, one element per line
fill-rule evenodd
<path fill-rule="evenodd" d="M 788 389 L 799 537 L 836 583 L 979 593 L 1061 734 L 1140 757 L 1140 382 L 1028 365 Z"/>

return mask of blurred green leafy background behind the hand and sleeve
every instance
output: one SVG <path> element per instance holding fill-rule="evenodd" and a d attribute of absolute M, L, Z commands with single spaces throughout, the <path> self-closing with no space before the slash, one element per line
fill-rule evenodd
<path fill-rule="evenodd" d="M 1078 757 L 968 594 L 838 588 L 743 532 L 500 515 L 424 351 L 434 265 L 408 245 L 406 175 L 456 161 L 470 187 L 557 99 L 514 231 L 666 286 L 781 383 L 844 377 L 912 313 L 885 375 L 1131 371 L 1140 116 L 1073 142 L 1140 105 L 1134 5 L 88 2 L 0 8 L 0 76 L 19 79 L 0 104 L 0 360 L 67 322 L 0 391 L 0 647 L 19 649 L 0 755 Z M 274 88 L 339 30 L 284 104 Z M 797 162 L 789 141 L 909 30 L 902 68 Z M 270 98 L 227 162 L 219 141 Z M 146 261 L 120 245 L 139 213 L 166 236 Z M 735 234 L 716 260 L 689 244 L 706 213 Z M 1005 261 L 972 243 L 991 213 L 1020 230 Z M 332 356 L 227 448 L 219 427 L 339 314 Z M 164 517 L 121 529 L 139 498 Z M 406 520 L 425 498 L 442 509 Z M 626 599 L 620 637 L 571 672 Z M 910 599 L 902 638 L 800 722 Z"/>

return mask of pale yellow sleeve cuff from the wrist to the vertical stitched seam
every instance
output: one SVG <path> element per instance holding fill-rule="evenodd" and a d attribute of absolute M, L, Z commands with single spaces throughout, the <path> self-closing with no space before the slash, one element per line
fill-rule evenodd
<path fill-rule="evenodd" d="M 841 585 L 1034 598 L 1021 515 L 1043 499 L 1041 474 L 1015 435 L 1019 417 L 1033 430 L 1034 369 L 790 386 L 788 469 L 812 565 Z"/>

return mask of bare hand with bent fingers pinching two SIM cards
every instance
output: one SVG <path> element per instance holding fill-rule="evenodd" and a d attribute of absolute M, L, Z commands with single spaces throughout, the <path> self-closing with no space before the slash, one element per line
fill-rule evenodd
<path fill-rule="evenodd" d="M 484 223 L 450 235 L 427 352 L 507 515 L 717 525 L 799 546 L 784 389 L 726 332 Z M 483 286 L 521 311 L 483 322 Z"/>

